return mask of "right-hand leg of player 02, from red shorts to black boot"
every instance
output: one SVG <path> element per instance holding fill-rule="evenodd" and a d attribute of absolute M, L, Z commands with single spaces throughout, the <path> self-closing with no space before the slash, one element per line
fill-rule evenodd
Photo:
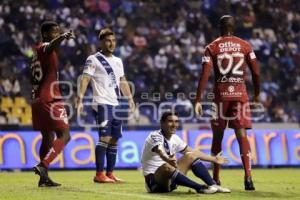
<path fill-rule="evenodd" d="M 233 107 L 233 115 L 238 117 L 229 122 L 229 127 L 234 129 L 239 143 L 241 160 L 245 171 L 245 189 L 255 190 L 251 178 L 251 149 L 246 132 L 246 129 L 252 127 L 249 104 L 236 102 Z"/>

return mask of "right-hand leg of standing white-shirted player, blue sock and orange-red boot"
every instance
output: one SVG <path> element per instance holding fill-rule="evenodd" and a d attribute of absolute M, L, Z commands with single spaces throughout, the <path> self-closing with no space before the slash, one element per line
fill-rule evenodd
<path fill-rule="evenodd" d="M 113 179 L 116 183 L 123 183 L 124 180 L 116 177 L 113 174 L 115 169 L 116 160 L 117 160 L 117 150 L 118 150 L 118 140 L 122 137 L 122 122 L 120 120 L 113 119 L 112 120 L 112 138 L 108 143 L 107 151 L 106 151 L 106 160 L 107 160 L 107 168 L 106 168 L 106 176 Z"/>

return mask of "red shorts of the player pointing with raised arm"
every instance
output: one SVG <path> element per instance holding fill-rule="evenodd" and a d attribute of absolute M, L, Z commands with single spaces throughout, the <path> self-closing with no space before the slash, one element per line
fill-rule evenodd
<path fill-rule="evenodd" d="M 67 112 L 62 101 L 34 101 L 31 108 L 34 130 L 54 131 L 69 128 Z"/>

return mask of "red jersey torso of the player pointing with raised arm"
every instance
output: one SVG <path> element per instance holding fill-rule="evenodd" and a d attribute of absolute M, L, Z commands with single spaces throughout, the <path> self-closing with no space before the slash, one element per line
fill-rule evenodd
<path fill-rule="evenodd" d="M 58 83 L 58 58 L 55 51 L 47 53 L 49 43 L 36 46 L 31 64 L 32 99 L 50 102 L 61 99 Z"/>

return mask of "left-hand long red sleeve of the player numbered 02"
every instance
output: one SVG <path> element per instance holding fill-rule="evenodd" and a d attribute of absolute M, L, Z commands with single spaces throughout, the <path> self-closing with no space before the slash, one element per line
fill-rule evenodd
<path fill-rule="evenodd" d="M 213 57 L 211 55 L 209 47 L 207 46 L 205 48 L 204 55 L 202 56 L 202 73 L 200 75 L 199 82 L 198 82 L 196 102 L 201 101 L 203 91 L 206 87 L 212 67 L 213 67 Z"/>

